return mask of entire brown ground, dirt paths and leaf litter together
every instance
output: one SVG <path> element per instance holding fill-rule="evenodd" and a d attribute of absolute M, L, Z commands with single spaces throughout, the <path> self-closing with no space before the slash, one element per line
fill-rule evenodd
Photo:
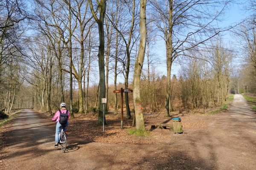
<path fill-rule="evenodd" d="M 23 110 L 0 128 L 0 170 L 255 170 L 256 112 L 243 96 L 223 113 L 177 116 L 183 134 L 157 128 L 137 137 L 128 134 L 132 120 L 120 129 L 119 115 L 106 115 L 104 133 L 96 116 L 76 115 L 62 153 L 50 116 Z M 146 113 L 146 129 L 172 117 Z"/>

